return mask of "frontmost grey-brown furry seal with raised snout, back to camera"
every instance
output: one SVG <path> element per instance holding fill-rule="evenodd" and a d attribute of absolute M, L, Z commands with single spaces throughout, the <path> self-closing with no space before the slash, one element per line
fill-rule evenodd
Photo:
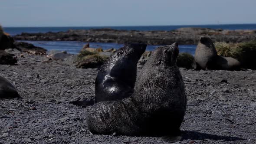
<path fill-rule="evenodd" d="M 179 136 L 187 98 L 176 65 L 178 53 L 177 43 L 155 49 L 130 97 L 101 101 L 89 107 L 89 131 L 128 136 Z"/>

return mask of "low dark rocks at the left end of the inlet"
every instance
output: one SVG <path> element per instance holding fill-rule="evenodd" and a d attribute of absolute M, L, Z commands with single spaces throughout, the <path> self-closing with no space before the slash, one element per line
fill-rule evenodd
<path fill-rule="evenodd" d="M 47 51 L 42 47 L 34 46 L 31 43 L 25 43 L 25 42 L 14 42 L 14 46 L 17 49 L 20 49 L 22 52 L 27 52 L 35 55 L 45 55 Z"/>

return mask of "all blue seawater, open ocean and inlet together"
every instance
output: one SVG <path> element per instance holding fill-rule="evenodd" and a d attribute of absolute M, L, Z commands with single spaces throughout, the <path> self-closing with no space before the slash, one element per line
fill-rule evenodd
<path fill-rule="evenodd" d="M 223 24 L 223 25 L 180 25 L 180 26 L 87 26 L 87 27 L 4 27 L 4 31 L 14 36 L 21 33 L 47 33 L 47 32 L 60 32 L 67 31 L 69 29 L 101 29 L 112 28 L 118 30 L 174 30 L 181 27 L 203 27 L 211 29 L 256 29 L 256 24 Z M 47 50 L 66 50 L 69 53 L 77 54 L 86 42 L 62 42 L 62 41 L 27 41 L 35 46 L 43 47 Z M 90 43 L 90 47 L 102 49 L 120 48 L 122 44 L 116 43 Z M 147 46 L 146 50 L 154 50 L 158 46 Z M 194 55 L 195 45 L 180 45 L 180 52 L 189 52 Z"/>

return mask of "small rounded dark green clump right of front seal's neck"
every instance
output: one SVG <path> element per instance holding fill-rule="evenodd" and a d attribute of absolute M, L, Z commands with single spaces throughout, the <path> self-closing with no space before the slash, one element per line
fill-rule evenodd
<path fill-rule="evenodd" d="M 194 65 L 194 56 L 187 52 L 181 52 L 177 57 L 177 66 L 192 69 Z"/>

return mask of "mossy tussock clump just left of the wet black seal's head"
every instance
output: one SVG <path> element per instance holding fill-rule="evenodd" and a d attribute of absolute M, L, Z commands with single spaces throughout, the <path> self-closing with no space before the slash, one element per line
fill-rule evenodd
<path fill-rule="evenodd" d="M 89 52 L 82 50 L 76 59 L 76 67 L 78 68 L 97 68 L 108 59 L 107 56 L 99 55 L 98 52 Z"/>

